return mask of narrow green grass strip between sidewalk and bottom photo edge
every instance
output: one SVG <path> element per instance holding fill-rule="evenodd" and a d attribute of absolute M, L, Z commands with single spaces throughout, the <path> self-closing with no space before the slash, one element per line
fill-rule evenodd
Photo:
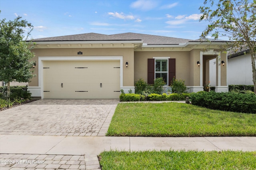
<path fill-rule="evenodd" d="M 102 170 L 255 170 L 256 152 L 242 151 L 104 151 Z"/>

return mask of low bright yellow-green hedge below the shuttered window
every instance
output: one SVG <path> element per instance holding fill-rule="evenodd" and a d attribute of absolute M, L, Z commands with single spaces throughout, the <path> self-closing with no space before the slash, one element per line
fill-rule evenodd
<path fill-rule="evenodd" d="M 138 101 L 180 101 L 186 100 L 186 97 L 190 97 L 189 93 L 173 93 L 173 94 L 149 94 L 147 98 L 141 94 L 121 94 L 120 102 L 138 102 Z"/>

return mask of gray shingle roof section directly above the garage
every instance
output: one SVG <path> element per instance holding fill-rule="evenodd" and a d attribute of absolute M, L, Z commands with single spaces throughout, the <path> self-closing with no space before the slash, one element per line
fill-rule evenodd
<path fill-rule="evenodd" d="M 98 33 L 84 33 L 84 34 L 76 34 L 76 35 L 33 39 L 33 41 L 122 41 L 122 40 L 126 41 L 126 40 L 141 40 L 141 39 L 118 37 L 115 35 L 105 35 L 105 34 L 98 34 Z"/>

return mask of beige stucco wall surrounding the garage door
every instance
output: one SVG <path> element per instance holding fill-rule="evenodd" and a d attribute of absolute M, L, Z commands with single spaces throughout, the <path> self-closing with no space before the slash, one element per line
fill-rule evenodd
<path fill-rule="evenodd" d="M 83 54 L 78 55 L 81 51 Z M 123 56 L 123 86 L 134 86 L 134 48 L 75 48 L 75 49 L 33 49 L 36 54 L 33 61 L 38 63 L 38 57 L 98 57 L 98 56 Z M 128 62 L 128 67 L 125 63 Z M 36 66 L 34 74 L 38 75 Z M 38 76 L 32 78 L 29 86 L 38 86 Z"/>

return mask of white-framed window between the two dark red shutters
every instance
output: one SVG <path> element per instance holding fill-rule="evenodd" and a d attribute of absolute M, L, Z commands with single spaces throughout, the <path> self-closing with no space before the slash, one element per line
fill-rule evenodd
<path fill-rule="evenodd" d="M 166 85 L 168 85 L 168 60 L 156 59 L 155 60 L 155 78 L 162 77 Z"/>

